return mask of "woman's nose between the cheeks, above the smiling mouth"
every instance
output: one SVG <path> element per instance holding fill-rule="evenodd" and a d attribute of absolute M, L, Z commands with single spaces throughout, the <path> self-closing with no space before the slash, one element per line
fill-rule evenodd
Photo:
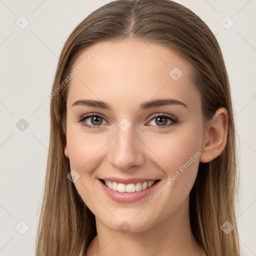
<path fill-rule="evenodd" d="M 145 145 L 141 142 L 139 136 L 134 133 L 133 126 L 126 131 L 117 127 L 108 151 L 109 162 L 119 170 L 134 170 L 134 168 L 144 163 L 143 148 L 145 148 Z"/>

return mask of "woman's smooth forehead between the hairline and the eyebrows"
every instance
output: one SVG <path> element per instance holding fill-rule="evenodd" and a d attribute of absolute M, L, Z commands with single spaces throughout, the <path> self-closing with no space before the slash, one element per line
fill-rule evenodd
<path fill-rule="evenodd" d="M 80 98 L 126 102 L 171 97 L 198 100 L 193 68 L 185 58 L 159 44 L 138 39 L 98 42 L 74 60 L 67 104 Z M 192 95 L 192 97 L 191 97 Z"/>

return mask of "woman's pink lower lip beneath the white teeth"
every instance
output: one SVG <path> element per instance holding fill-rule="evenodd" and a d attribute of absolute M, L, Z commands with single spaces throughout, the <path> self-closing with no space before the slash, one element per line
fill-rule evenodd
<path fill-rule="evenodd" d="M 159 180 L 144 190 L 140 190 L 137 192 L 131 192 L 131 193 L 115 191 L 115 190 L 110 189 L 108 186 L 104 185 L 99 179 L 98 179 L 98 182 L 100 183 L 104 192 L 111 199 L 113 199 L 117 202 L 136 202 L 136 201 L 142 199 L 143 197 L 145 197 L 146 195 L 148 195 L 149 193 L 151 193 L 152 190 L 154 189 L 154 187 L 158 184 Z"/>

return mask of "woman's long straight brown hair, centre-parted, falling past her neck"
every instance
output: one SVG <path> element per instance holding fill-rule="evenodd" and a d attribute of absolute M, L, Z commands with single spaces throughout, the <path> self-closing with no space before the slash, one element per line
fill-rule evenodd
<path fill-rule="evenodd" d="M 234 202 L 236 155 L 229 81 L 219 44 L 209 27 L 191 10 L 170 0 L 115 0 L 89 14 L 67 38 L 52 84 L 50 140 L 36 255 L 78 256 L 96 235 L 95 217 L 67 178 L 66 96 L 77 55 L 93 43 L 139 38 L 164 45 L 187 59 L 195 69 L 193 82 L 201 96 L 204 120 L 220 107 L 228 111 L 228 134 L 221 154 L 199 164 L 189 195 L 193 235 L 207 255 L 238 256 L 239 243 Z M 62 83 L 62 86 L 60 84 Z M 226 234 L 221 226 L 234 229 Z"/>

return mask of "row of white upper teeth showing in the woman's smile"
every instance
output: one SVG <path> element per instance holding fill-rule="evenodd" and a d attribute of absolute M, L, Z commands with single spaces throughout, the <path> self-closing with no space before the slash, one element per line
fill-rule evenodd
<path fill-rule="evenodd" d="M 117 183 L 114 181 L 104 180 L 106 186 L 111 188 L 112 190 L 119 191 L 119 192 L 135 192 L 140 190 L 145 190 L 146 188 L 150 187 L 155 180 L 150 181 L 144 181 L 144 182 L 138 182 L 138 183 L 130 183 L 130 184 L 123 184 L 123 183 Z"/>

